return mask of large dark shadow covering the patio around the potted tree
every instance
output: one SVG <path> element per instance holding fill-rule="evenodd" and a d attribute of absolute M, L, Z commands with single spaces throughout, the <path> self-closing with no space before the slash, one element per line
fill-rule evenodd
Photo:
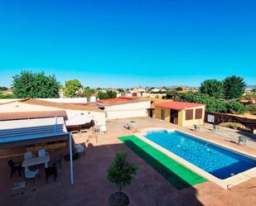
<path fill-rule="evenodd" d="M 24 179 L 19 178 L 18 174 L 10 179 L 7 159 L 2 159 L 1 205 L 108 205 L 109 194 L 117 190 L 107 180 L 107 168 L 114 160 L 116 152 L 127 152 L 128 160 L 138 165 L 138 175 L 133 184 L 123 190 L 130 198 L 130 205 L 202 205 L 196 197 L 197 191 L 194 187 L 176 189 L 124 144 L 90 144 L 86 153 L 79 160 L 74 160 L 74 185 L 70 185 L 69 162 L 64 160 L 63 167 L 58 170 L 59 177 L 56 182 L 52 179 L 46 184 L 41 165 L 41 179 L 36 180 L 36 184 L 29 182 L 25 189 L 12 190 L 14 183 Z M 51 152 L 51 156 L 60 153 L 65 154 L 66 151 Z M 22 157 L 17 157 L 17 160 L 21 159 Z"/>

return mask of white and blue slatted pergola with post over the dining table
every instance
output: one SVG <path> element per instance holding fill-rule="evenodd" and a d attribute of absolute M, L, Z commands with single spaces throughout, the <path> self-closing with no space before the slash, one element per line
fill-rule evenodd
<path fill-rule="evenodd" d="M 74 184 L 72 135 L 66 131 L 63 117 L 0 121 L 0 149 L 60 140 L 69 140 L 70 184 Z"/>

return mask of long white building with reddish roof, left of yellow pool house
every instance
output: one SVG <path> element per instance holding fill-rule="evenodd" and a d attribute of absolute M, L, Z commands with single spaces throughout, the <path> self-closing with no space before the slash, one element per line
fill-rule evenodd
<path fill-rule="evenodd" d="M 99 108 L 106 113 L 106 119 L 147 117 L 151 102 L 141 98 L 109 98 L 99 100 Z"/>

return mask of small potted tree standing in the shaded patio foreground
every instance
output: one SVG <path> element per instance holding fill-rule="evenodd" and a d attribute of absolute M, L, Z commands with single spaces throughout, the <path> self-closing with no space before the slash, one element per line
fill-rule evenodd
<path fill-rule="evenodd" d="M 109 196 L 110 206 L 124 206 L 129 204 L 127 194 L 121 192 L 122 187 L 132 184 L 133 177 L 136 175 L 138 168 L 126 160 L 125 153 L 117 153 L 114 163 L 109 166 L 108 180 L 118 186 L 118 192 Z"/>

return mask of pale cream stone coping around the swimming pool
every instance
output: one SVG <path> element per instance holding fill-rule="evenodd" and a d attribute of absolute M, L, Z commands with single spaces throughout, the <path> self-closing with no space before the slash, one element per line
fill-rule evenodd
<path fill-rule="evenodd" d="M 138 137 L 139 139 L 141 139 L 142 141 L 147 142 L 147 144 L 155 147 L 157 150 L 162 151 L 165 155 L 171 157 L 171 159 L 176 160 L 181 165 L 185 165 L 188 169 L 196 172 L 198 175 L 201 175 L 201 176 L 205 177 L 205 179 L 210 180 L 210 181 L 214 182 L 215 184 L 218 184 L 223 189 L 229 189 L 230 187 L 232 187 L 234 185 L 241 184 L 241 183 L 243 183 L 247 180 L 250 180 L 251 178 L 256 177 L 256 167 L 254 167 L 252 169 L 245 170 L 244 172 L 241 172 L 237 175 L 226 178 L 225 180 L 221 180 L 221 179 L 215 177 L 214 175 L 211 175 L 210 173 L 206 172 L 205 170 L 200 169 L 198 166 L 191 164 L 187 160 L 184 160 L 180 156 L 176 156 L 171 151 L 168 151 L 167 149 L 163 148 L 162 146 L 157 145 L 153 141 L 148 140 L 146 137 L 143 137 L 143 135 L 146 135 L 147 132 L 156 131 L 156 130 L 158 130 L 158 131 L 166 130 L 167 132 L 175 132 L 175 131 L 183 132 L 183 133 L 185 133 L 189 136 L 196 137 L 196 138 L 198 138 L 202 141 L 208 141 L 208 142 L 210 142 L 210 143 L 212 143 L 216 146 L 223 147 L 223 148 L 225 148 L 226 150 L 229 150 L 229 151 L 234 151 L 234 152 L 239 153 L 240 155 L 243 155 L 243 156 L 248 156 L 249 158 L 256 159 L 256 156 L 254 156 L 252 154 L 249 154 L 248 152 L 239 151 L 238 149 L 236 149 L 234 147 L 225 146 L 225 145 L 223 145 L 219 142 L 216 143 L 215 141 L 211 141 L 211 140 L 205 139 L 203 137 L 199 137 L 199 136 L 196 136 L 194 134 L 191 134 L 189 132 L 181 131 L 181 130 L 176 129 L 176 128 L 170 129 L 170 128 L 165 128 L 165 127 L 148 127 L 148 128 L 142 129 L 141 132 L 137 132 L 137 133 L 133 134 L 136 137 Z"/>

